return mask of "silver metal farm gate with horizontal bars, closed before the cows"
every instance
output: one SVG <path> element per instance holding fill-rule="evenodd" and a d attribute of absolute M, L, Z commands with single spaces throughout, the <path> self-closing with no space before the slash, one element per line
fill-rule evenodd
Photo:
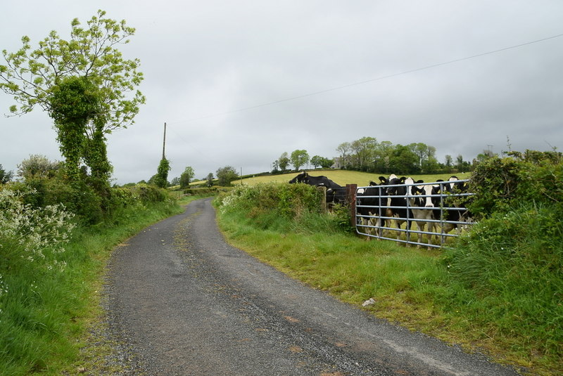
<path fill-rule="evenodd" d="M 472 224 L 467 207 L 460 203 L 467 202 L 467 197 L 474 195 L 474 193 L 462 192 L 457 189 L 452 190 L 452 186 L 450 186 L 453 183 L 465 182 L 467 180 L 400 184 L 396 186 L 350 187 L 355 188 L 355 192 L 352 189 L 350 193 L 355 193 L 355 200 L 351 200 L 353 204 L 351 212 L 354 214 L 356 232 L 372 238 L 393 240 L 417 246 L 442 247 L 448 238 L 459 236 L 466 226 Z M 386 193 L 388 188 L 405 186 L 407 187 L 405 195 L 387 195 Z M 440 189 L 437 194 L 410 195 L 410 188 L 413 186 L 435 186 Z M 391 205 L 392 197 L 404 197 L 406 199 L 403 201 L 405 205 Z M 435 197 L 438 199 L 438 205 L 434 205 L 434 207 L 412 205 L 412 201 L 416 197 L 424 199 Z M 464 197 L 464 199 L 456 199 L 456 197 Z M 365 202 L 370 201 L 369 199 L 372 199 L 371 205 L 365 205 Z M 424 214 L 421 211 L 431 210 L 434 213 L 433 219 L 417 219 L 412 214 L 412 209 L 415 209 L 418 214 Z M 397 216 L 393 212 L 405 212 L 405 214 Z M 452 218 L 457 220 L 451 220 Z M 397 224 L 400 222 L 403 223 L 398 227 Z M 407 228 L 406 223 L 410 223 L 410 228 Z M 430 223 L 434 225 L 434 231 L 427 231 L 431 227 L 429 226 Z M 422 230 L 419 230 L 419 224 L 424 227 Z M 419 240 L 419 235 L 422 235 L 422 241 Z"/>

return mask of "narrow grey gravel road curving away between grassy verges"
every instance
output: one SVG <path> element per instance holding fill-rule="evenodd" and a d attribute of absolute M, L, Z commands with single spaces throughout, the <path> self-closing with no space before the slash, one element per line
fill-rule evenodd
<path fill-rule="evenodd" d="M 118 247 L 106 294 L 129 375 L 517 375 L 227 245 L 209 199 Z"/>

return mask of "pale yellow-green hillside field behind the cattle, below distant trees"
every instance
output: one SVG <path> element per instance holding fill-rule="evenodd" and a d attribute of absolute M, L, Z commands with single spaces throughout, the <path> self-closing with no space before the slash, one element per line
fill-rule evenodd
<path fill-rule="evenodd" d="M 311 176 L 327 176 L 327 178 L 331 179 L 335 183 L 339 184 L 340 186 L 346 186 L 346 184 L 358 184 L 358 186 L 368 186 L 369 181 L 375 181 L 379 183 L 379 176 L 389 176 L 389 174 L 373 174 L 369 172 L 360 172 L 360 171 L 350 171 L 350 170 L 311 170 L 308 171 Z M 290 181 L 295 176 L 297 176 L 298 172 L 291 172 L 289 174 L 281 174 L 281 175 L 267 175 L 267 176 L 256 176 L 253 178 L 247 178 L 242 180 L 233 181 L 233 184 L 248 184 L 249 186 L 253 186 L 258 183 L 283 183 L 285 181 Z M 422 179 L 426 182 L 433 182 L 437 181 L 438 179 L 448 180 L 450 176 L 453 174 L 436 174 L 436 175 L 412 175 L 412 179 L 419 180 Z M 399 175 L 400 176 L 400 175 Z M 455 174 L 459 179 L 468 179 L 468 173 L 462 174 Z"/>

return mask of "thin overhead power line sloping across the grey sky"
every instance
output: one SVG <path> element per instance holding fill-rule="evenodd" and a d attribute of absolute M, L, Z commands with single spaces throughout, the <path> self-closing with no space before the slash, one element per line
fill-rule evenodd
<path fill-rule="evenodd" d="M 428 70 L 434 67 L 441 67 L 443 65 L 448 65 L 448 64 L 453 64 L 453 63 L 459 63 L 460 61 L 464 61 L 464 60 L 470 60 L 470 59 L 474 59 L 474 58 L 480 58 L 481 56 L 486 56 L 486 55 L 491 55 L 493 53 L 499 53 L 502 51 L 507 51 L 507 50 L 512 50 L 514 48 L 520 48 L 523 46 L 528 46 L 529 44 L 536 44 L 536 43 L 540 43 L 542 41 L 548 41 L 550 39 L 555 39 L 555 38 L 559 38 L 559 37 L 563 37 L 563 34 L 557 34 L 557 35 L 553 35 L 552 37 L 546 37 L 546 38 L 542 38 L 542 39 L 536 39 L 535 41 L 528 41 L 526 43 L 521 43 L 521 44 L 515 44 L 514 46 L 509 46 L 509 47 L 504 47 L 504 48 L 499 48 L 497 50 L 494 51 L 488 51 L 488 52 L 483 52 L 483 53 L 478 53 L 476 55 L 472 55 L 472 56 L 466 56 L 464 58 L 458 58 L 458 59 L 454 59 L 454 60 L 448 60 L 445 61 L 443 63 L 436 63 L 436 64 L 431 64 L 431 65 L 426 65 L 424 67 L 418 67 L 412 70 L 405 70 L 403 72 L 398 72 L 398 73 L 393 73 L 393 74 L 386 74 L 384 76 L 380 76 L 380 77 L 376 77 L 376 78 L 372 78 L 372 79 L 365 79 L 364 81 L 359 81 L 359 82 L 353 82 L 352 84 L 346 84 L 346 85 L 342 85 L 342 86 L 335 86 L 332 87 L 330 89 L 324 89 L 324 90 L 320 90 L 320 91 L 312 91 L 311 93 L 306 93 L 306 94 L 302 94 L 300 96 L 292 96 L 289 98 L 284 98 L 284 99 L 280 99 L 278 101 L 272 101 L 272 102 L 266 102 L 266 103 L 260 103 L 258 105 L 251 105 L 248 107 L 243 107 L 243 108 L 237 108 L 235 110 L 230 110 L 230 111 L 226 111 L 226 112 L 220 112 L 217 114 L 213 114 L 213 115 L 206 115 L 206 116 L 202 116 L 202 117 L 196 117 L 194 119 L 188 119 L 188 120 L 184 120 L 184 121 L 177 121 L 174 123 L 179 123 L 179 122 L 195 122 L 197 120 L 202 120 L 202 119 L 208 119 L 210 117 L 217 117 L 217 116 L 222 116 L 222 115 L 229 115 L 229 114 L 234 114 L 236 112 L 243 112 L 243 111 L 248 111 L 248 110 L 253 110 L 255 108 L 261 108 L 261 107 L 266 107 L 269 105 L 276 105 L 278 103 L 284 103 L 284 102 L 289 102 L 289 101 L 296 101 L 297 99 L 301 99 L 301 98 L 307 98 L 309 96 L 317 96 L 319 94 L 322 93 L 328 93 L 329 91 L 336 91 L 336 90 L 341 90 L 341 89 L 346 89 L 348 87 L 351 86 L 358 86 L 358 85 L 362 85 L 362 84 L 367 84 L 369 82 L 375 82 L 375 81 L 380 81 L 382 79 L 388 79 L 391 77 L 397 77 L 403 74 L 410 74 L 410 73 L 414 73 L 414 72 L 419 72 L 421 70 Z"/>

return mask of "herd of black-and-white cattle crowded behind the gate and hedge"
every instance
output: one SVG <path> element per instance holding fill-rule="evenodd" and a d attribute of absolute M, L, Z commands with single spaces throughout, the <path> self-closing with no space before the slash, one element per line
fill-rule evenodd
<path fill-rule="evenodd" d="M 307 172 L 298 174 L 289 183 L 305 183 L 327 188 L 327 203 L 355 205 L 356 228 L 358 233 L 385 238 L 384 231 L 393 232 L 395 240 L 399 233 L 406 234 L 405 242 L 422 245 L 422 235 L 441 236 L 442 242 L 454 228 L 458 229 L 472 221 L 467 209 L 471 193 L 467 192 L 467 181 L 451 176 L 448 181 L 433 183 L 414 181 L 405 176 L 388 178 L 379 176 L 379 183 L 371 181 L 369 186 L 355 190 L 355 197 L 348 197 L 346 187 L 339 186 L 326 176 L 310 176 Z M 355 199 L 354 199 L 355 198 Z M 391 227 L 391 221 L 396 224 Z M 418 231 L 412 231 L 412 222 Z M 402 225 L 406 223 L 403 229 Z M 375 232 L 375 233 L 374 233 Z M 411 241 L 410 234 L 417 233 L 418 241 Z M 398 240 L 403 241 L 403 240 Z"/>

